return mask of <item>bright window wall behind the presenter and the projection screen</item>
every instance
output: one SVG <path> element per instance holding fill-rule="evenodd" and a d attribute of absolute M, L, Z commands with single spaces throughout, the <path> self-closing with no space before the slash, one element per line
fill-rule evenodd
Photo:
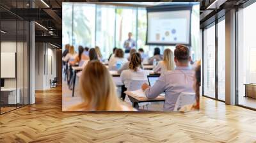
<path fill-rule="evenodd" d="M 147 35 L 147 10 L 143 7 L 115 6 L 88 3 L 63 3 L 63 49 L 70 43 L 75 49 L 99 46 L 103 59 L 107 59 L 113 47 L 124 48 L 128 33 L 136 41 L 136 49 L 143 48 L 152 56 L 155 47 L 145 45 Z M 191 56 L 193 61 L 201 58 L 199 50 L 199 4 L 193 6 L 191 16 Z M 196 28 L 197 27 L 197 28 Z"/>

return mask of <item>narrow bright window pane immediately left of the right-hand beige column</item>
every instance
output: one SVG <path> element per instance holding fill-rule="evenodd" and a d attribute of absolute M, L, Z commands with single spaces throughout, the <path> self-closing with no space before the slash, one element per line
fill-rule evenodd
<path fill-rule="evenodd" d="M 225 101 L 225 20 L 218 23 L 218 99 Z"/>

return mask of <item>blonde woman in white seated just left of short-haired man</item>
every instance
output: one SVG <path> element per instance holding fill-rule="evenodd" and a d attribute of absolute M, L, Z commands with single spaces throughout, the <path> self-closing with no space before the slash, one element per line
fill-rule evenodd
<path fill-rule="evenodd" d="M 174 54 L 173 54 L 172 50 L 165 49 L 163 61 L 159 61 L 159 63 L 153 70 L 154 70 L 154 73 L 164 73 L 167 71 L 174 70 L 174 65 L 175 65 Z"/>

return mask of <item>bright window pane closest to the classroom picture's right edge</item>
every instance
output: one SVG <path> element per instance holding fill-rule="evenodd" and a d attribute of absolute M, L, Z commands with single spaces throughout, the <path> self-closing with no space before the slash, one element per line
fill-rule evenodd
<path fill-rule="evenodd" d="M 204 95 L 215 98 L 215 25 L 204 30 Z"/>

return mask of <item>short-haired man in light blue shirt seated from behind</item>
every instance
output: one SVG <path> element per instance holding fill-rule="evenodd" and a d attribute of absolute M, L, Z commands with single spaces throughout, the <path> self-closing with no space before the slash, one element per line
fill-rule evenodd
<path fill-rule="evenodd" d="M 164 111 L 173 111 L 180 93 L 195 93 L 193 89 L 195 72 L 189 67 L 191 57 L 188 47 L 177 45 L 174 56 L 175 70 L 161 74 L 152 87 L 146 83 L 141 86 L 147 98 L 156 98 L 165 92 Z"/>

